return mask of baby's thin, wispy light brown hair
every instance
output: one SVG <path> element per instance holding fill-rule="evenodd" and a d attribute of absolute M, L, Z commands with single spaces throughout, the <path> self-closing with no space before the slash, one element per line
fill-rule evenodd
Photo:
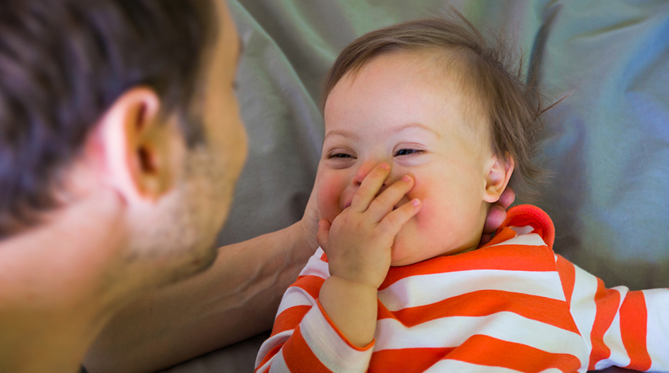
<path fill-rule="evenodd" d="M 511 73 L 513 58 L 504 44 L 498 40 L 498 45 L 488 46 L 463 15 L 454 13 L 454 19 L 423 18 L 384 27 L 346 46 L 327 74 L 322 107 L 344 75 L 355 75 L 376 56 L 393 51 L 442 53 L 450 62 L 445 68 L 454 68 L 461 88 L 473 92 L 475 108 L 484 110 L 496 156 L 505 162 L 513 158 L 515 172 L 509 185 L 516 193 L 527 192 L 527 184 L 539 182 L 544 174 L 536 156 L 543 128 L 540 115 L 547 109 L 542 108 L 534 75 L 529 83 L 523 82 L 522 64 Z"/>

